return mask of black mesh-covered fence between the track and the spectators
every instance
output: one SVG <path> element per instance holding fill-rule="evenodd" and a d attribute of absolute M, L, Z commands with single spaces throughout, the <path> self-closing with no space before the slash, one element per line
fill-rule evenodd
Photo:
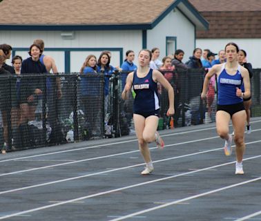
<path fill-rule="evenodd" d="M 255 69 L 253 73 L 251 115 L 260 116 L 261 70 Z M 0 145 L 6 142 L 10 151 L 132 133 L 134 96 L 130 94 L 125 101 L 121 98 L 125 84 L 122 79 L 127 74 L 0 76 Z M 207 102 L 200 99 L 204 69 L 162 70 L 162 74 L 175 91 L 174 127 L 215 122 L 215 79 Z M 57 84 L 61 84 L 60 99 Z M 105 84 L 109 86 L 108 95 Z M 41 93 L 36 93 L 37 88 Z M 169 128 L 171 117 L 166 116 L 167 92 L 161 86 L 158 89 L 161 104 L 158 129 L 162 130 Z"/>

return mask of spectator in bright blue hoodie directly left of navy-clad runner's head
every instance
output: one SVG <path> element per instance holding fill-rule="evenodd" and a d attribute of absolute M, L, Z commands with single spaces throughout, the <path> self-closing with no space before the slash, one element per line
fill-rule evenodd
<path fill-rule="evenodd" d="M 137 66 L 133 63 L 135 59 L 135 54 L 133 50 L 127 50 L 126 51 L 126 59 L 124 60 L 124 63 L 122 63 L 121 69 L 122 69 L 122 90 L 124 89 L 124 86 L 126 84 L 126 78 L 128 76 L 128 73 L 133 72 L 134 70 L 137 70 Z"/>

